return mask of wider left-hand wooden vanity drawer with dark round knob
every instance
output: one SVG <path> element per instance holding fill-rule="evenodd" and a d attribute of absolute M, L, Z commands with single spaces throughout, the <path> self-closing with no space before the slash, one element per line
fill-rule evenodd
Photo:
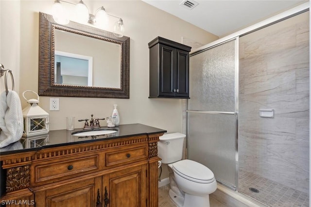
<path fill-rule="evenodd" d="M 67 159 L 59 159 L 57 162 L 38 162 L 34 164 L 34 183 L 41 185 L 54 181 L 86 175 L 101 170 L 100 155 L 91 154 L 85 156 L 72 156 Z"/>

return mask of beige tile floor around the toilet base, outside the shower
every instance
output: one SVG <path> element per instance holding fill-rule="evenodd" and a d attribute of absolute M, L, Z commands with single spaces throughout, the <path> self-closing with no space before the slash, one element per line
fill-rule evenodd
<path fill-rule="evenodd" d="M 170 186 L 166 185 L 159 188 L 159 207 L 176 207 L 169 196 Z M 214 198 L 209 198 L 210 207 L 229 207 L 220 203 Z"/>

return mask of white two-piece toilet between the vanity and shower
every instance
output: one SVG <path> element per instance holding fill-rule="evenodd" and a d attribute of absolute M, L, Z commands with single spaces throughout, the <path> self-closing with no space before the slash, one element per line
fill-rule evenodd
<path fill-rule="evenodd" d="M 158 156 L 168 164 L 170 197 L 178 207 L 209 207 L 209 194 L 217 189 L 213 172 L 190 159 L 182 159 L 186 135 L 164 134 L 158 143 Z"/>

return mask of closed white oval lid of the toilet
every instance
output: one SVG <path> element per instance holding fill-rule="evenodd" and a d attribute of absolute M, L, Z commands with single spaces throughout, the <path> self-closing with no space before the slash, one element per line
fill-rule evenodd
<path fill-rule="evenodd" d="M 178 175 L 198 183 L 211 183 L 215 180 L 214 174 L 203 164 L 190 159 L 183 159 L 173 163 L 173 171 Z"/>

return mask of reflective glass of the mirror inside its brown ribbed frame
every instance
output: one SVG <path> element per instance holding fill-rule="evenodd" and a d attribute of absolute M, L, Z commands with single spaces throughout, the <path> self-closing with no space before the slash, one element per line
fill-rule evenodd
<path fill-rule="evenodd" d="M 92 68 L 92 70 L 85 68 L 84 74 L 78 75 L 81 71 L 80 66 L 82 66 L 82 63 L 78 63 L 79 66 L 75 66 L 74 64 L 66 65 L 66 69 L 63 67 L 64 64 L 61 63 L 60 67 L 57 68 L 57 51 L 62 53 L 63 56 L 67 56 L 69 58 L 72 58 L 70 54 L 74 54 L 76 55 L 76 58 L 88 60 L 87 65 L 89 68 Z M 78 86 L 85 85 L 106 88 L 121 88 L 120 54 L 121 46 L 119 44 L 56 29 L 54 68 L 54 72 L 56 72 L 55 83 Z M 92 59 L 91 66 L 89 65 L 90 59 Z M 57 73 L 57 70 L 60 73 Z M 92 71 L 92 74 L 89 74 L 88 71 Z M 69 75 L 70 77 L 66 75 Z"/>

